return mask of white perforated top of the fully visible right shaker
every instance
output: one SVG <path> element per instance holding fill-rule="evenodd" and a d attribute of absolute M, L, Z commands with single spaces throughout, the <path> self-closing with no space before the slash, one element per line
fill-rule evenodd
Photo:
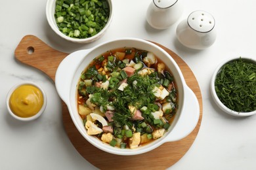
<path fill-rule="evenodd" d="M 215 26 L 215 20 L 208 12 L 196 10 L 188 16 L 188 25 L 195 31 L 207 33 Z"/>

